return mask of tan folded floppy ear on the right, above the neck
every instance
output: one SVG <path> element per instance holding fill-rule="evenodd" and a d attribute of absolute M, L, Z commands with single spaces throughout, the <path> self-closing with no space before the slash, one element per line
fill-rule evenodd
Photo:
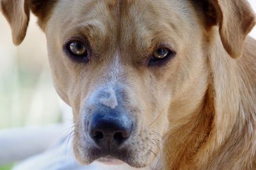
<path fill-rule="evenodd" d="M 207 0 L 206 13 L 220 26 L 221 41 L 228 54 L 243 54 L 244 41 L 255 25 L 255 15 L 246 0 Z"/>

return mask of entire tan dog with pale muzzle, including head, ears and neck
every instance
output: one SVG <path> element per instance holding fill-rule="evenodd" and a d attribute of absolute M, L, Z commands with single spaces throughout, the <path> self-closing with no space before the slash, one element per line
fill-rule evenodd
<path fill-rule="evenodd" d="M 1 0 L 0 9 L 15 45 L 30 11 L 38 17 L 81 164 L 256 169 L 247 1 Z"/>

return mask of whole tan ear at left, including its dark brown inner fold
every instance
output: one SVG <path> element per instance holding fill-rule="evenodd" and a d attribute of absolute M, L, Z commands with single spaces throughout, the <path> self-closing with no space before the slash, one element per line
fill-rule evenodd
<path fill-rule="evenodd" d="M 26 36 L 29 11 L 38 17 L 38 24 L 44 30 L 49 14 L 58 0 L 0 0 L 0 11 L 12 28 L 15 45 L 20 45 Z"/>

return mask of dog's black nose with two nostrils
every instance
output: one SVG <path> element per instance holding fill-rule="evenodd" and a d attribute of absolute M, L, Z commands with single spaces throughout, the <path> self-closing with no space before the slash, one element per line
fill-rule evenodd
<path fill-rule="evenodd" d="M 89 134 L 102 148 L 120 146 L 131 136 L 132 124 L 131 118 L 122 113 L 94 113 Z"/>

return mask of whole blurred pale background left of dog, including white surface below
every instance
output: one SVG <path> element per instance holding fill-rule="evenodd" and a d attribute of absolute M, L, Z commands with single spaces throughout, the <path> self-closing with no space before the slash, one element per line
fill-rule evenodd
<path fill-rule="evenodd" d="M 9 170 L 10 163 L 43 152 L 67 135 L 70 124 L 54 124 L 63 122 L 63 113 L 71 123 L 72 113 L 52 85 L 46 39 L 36 18 L 31 16 L 20 46 L 13 45 L 1 13 L 0 25 L 0 170 Z"/>

